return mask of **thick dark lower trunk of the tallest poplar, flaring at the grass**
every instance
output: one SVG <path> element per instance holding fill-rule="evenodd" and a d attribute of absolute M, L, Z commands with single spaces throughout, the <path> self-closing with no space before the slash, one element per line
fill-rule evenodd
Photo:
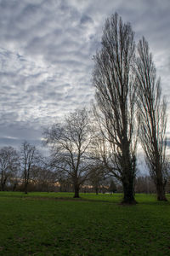
<path fill-rule="evenodd" d="M 122 182 L 123 186 L 123 200 L 122 204 L 134 205 L 137 204 L 137 201 L 134 199 L 134 186 L 133 179 L 131 181 Z"/>

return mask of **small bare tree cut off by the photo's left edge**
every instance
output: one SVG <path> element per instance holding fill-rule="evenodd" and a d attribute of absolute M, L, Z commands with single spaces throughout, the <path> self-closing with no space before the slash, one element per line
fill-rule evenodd
<path fill-rule="evenodd" d="M 0 149 L 0 181 L 1 190 L 5 189 L 9 180 L 17 177 L 20 168 L 19 154 L 12 147 Z"/>

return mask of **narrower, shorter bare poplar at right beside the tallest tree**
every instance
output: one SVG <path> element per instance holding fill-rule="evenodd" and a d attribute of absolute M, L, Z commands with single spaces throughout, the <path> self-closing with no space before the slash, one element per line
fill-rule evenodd
<path fill-rule="evenodd" d="M 156 184 L 157 200 L 167 201 L 166 125 L 167 103 L 161 97 L 160 79 L 156 79 L 156 67 L 152 60 L 149 44 L 139 40 L 136 60 L 136 82 L 139 96 L 139 137 L 150 176 Z"/>

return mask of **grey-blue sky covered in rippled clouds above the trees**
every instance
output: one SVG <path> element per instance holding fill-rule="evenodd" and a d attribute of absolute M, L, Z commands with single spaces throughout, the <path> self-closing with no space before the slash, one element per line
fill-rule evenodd
<path fill-rule="evenodd" d="M 170 101 L 169 0 L 0 0 L 0 147 L 40 146 L 43 127 L 90 103 L 93 55 L 115 12 L 149 41 Z"/>

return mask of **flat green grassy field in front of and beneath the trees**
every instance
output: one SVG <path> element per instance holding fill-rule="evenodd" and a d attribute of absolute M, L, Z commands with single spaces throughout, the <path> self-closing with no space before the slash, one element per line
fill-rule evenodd
<path fill-rule="evenodd" d="M 0 192 L 0 255 L 170 255 L 170 202 L 136 195 Z M 170 201 L 170 196 L 167 195 Z"/>

